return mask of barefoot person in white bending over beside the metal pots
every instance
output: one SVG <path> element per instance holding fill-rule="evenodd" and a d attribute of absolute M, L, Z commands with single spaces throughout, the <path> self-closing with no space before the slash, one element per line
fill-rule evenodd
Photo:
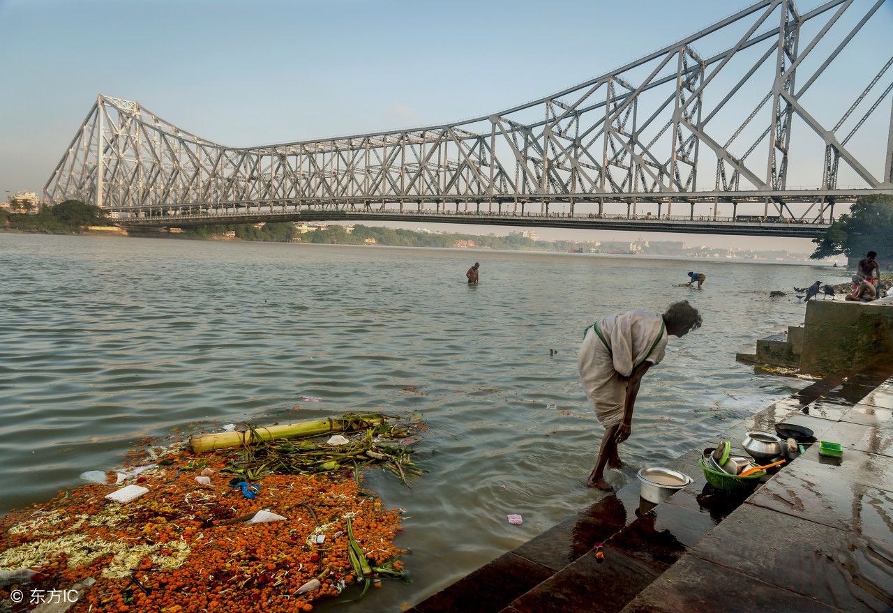
<path fill-rule="evenodd" d="M 683 301 L 671 304 L 663 315 L 629 311 L 599 319 L 586 329 L 580 346 L 580 383 L 605 427 L 587 485 L 612 489 L 605 481 L 605 465 L 623 466 L 617 445 L 630 437 L 642 377 L 663 360 L 670 335 L 684 336 L 697 327 L 701 327 L 701 316 Z"/>

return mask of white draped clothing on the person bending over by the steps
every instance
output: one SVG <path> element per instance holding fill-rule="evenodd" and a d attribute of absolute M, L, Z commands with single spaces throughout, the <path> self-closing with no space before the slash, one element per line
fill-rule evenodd
<path fill-rule="evenodd" d="M 619 426 L 626 408 L 627 381 L 642 362 L 663 360 L 667 333 L 658 313 L 630 311 L 597 322 L 603 341 L 589 327 L 580 345 L 580 384 L 605 428 Z M 611 349 L 608 349 L 608 346 Z"/>

